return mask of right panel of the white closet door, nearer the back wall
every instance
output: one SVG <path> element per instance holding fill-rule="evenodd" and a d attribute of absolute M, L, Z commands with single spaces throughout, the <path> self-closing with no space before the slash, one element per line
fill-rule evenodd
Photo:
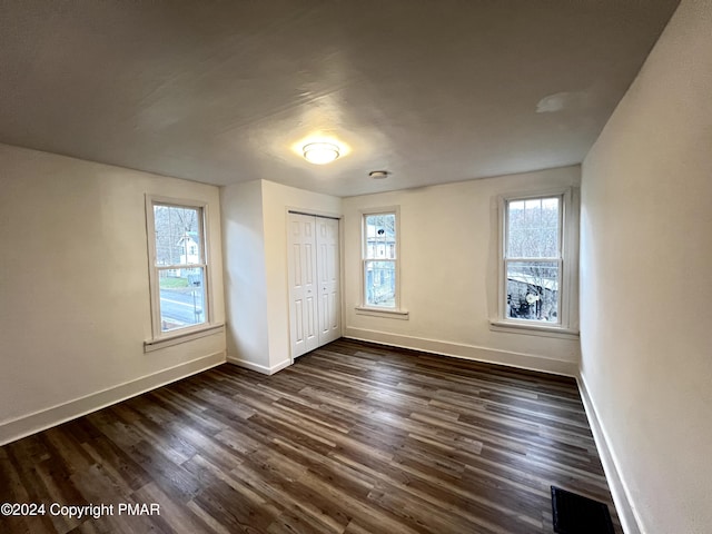
<path fill-rule="evenodd" d="M 319 317 L 319 346 L 338 339 L 340 328 L 340 270 L 338 220 L 316 218 L 317 290 Z"/>

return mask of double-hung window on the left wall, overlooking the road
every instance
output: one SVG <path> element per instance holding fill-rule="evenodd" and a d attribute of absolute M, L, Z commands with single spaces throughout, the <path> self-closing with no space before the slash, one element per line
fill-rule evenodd
<path fill-rule="evenodd" d="M 210 319 L 205 209 L 147 200 L 154 338 L 197 330 Z"/>

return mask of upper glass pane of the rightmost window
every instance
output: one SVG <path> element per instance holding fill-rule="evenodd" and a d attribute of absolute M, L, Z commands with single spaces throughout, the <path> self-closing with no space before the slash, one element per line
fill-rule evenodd
<path fill-rule="evenodd" d="M 560 198 L 508 202 L 507 257 L 557 258 Z"/>

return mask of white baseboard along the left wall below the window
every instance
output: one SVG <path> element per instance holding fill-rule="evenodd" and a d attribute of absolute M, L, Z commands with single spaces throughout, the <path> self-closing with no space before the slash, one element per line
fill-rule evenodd
<path fill-rule="evenodd" d="M 225 352 L 182 363 L 131 382 L 102 389 L 83 397 L 58 404 L 0 424 L 0 445 L 51 428 L 67 421 L 76 419 L 97 409 L 105 408 L 127 398 L 135 397 L 171 382 L 180 380 L 196 373 L 225 363 Z"/>

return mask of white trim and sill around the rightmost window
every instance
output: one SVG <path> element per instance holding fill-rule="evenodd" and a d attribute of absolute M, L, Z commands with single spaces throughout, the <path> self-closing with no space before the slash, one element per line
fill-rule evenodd
<path fill-rule="evenodd" d="M 561 254 L 562 275 L 558 291 L 558 324 L 536 323 L 506 317 L 506 209 L 507 202 L 531 198 L 561 197 Z M 543 189 L 517 195 L 503 195 L 498 198 L 498 266 L 497 266 L 497 316 L 490 320 L 493 332 L 527 334 L 543 337 L 578 338 L 578 190 L 574 187 Z"/>

